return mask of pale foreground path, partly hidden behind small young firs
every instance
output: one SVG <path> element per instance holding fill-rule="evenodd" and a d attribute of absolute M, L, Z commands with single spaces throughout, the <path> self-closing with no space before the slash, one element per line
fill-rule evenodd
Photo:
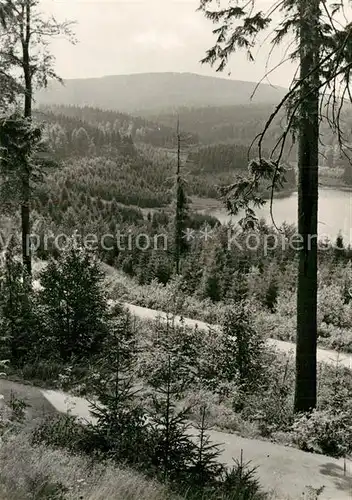
<path fill-rule="evenodd" d="M 67 413 L 90 420 L 89 403 L 60 391 L 42 390 L 0 380 L 0 394 L 4 402 L 11 392 L 26 398 L 30 405 L 29 417 L 36 418 L 43 413 Z M 250 461 L 258 467 L 258 478 L 266 491 L 273 491 L 280 500 L 351 500 L 352 461 L 335 459 L 324 455 L 305 453 L 296 448 L 281 446 L 269 441 L 246 439 L 236 434 L 218 431 L 209 432 L 211 440 L 219 443 L 223 450 L 220 460 L 231 466 L 233 459 Z M 314 496 L 314 489 L 323 488 Z"/>

